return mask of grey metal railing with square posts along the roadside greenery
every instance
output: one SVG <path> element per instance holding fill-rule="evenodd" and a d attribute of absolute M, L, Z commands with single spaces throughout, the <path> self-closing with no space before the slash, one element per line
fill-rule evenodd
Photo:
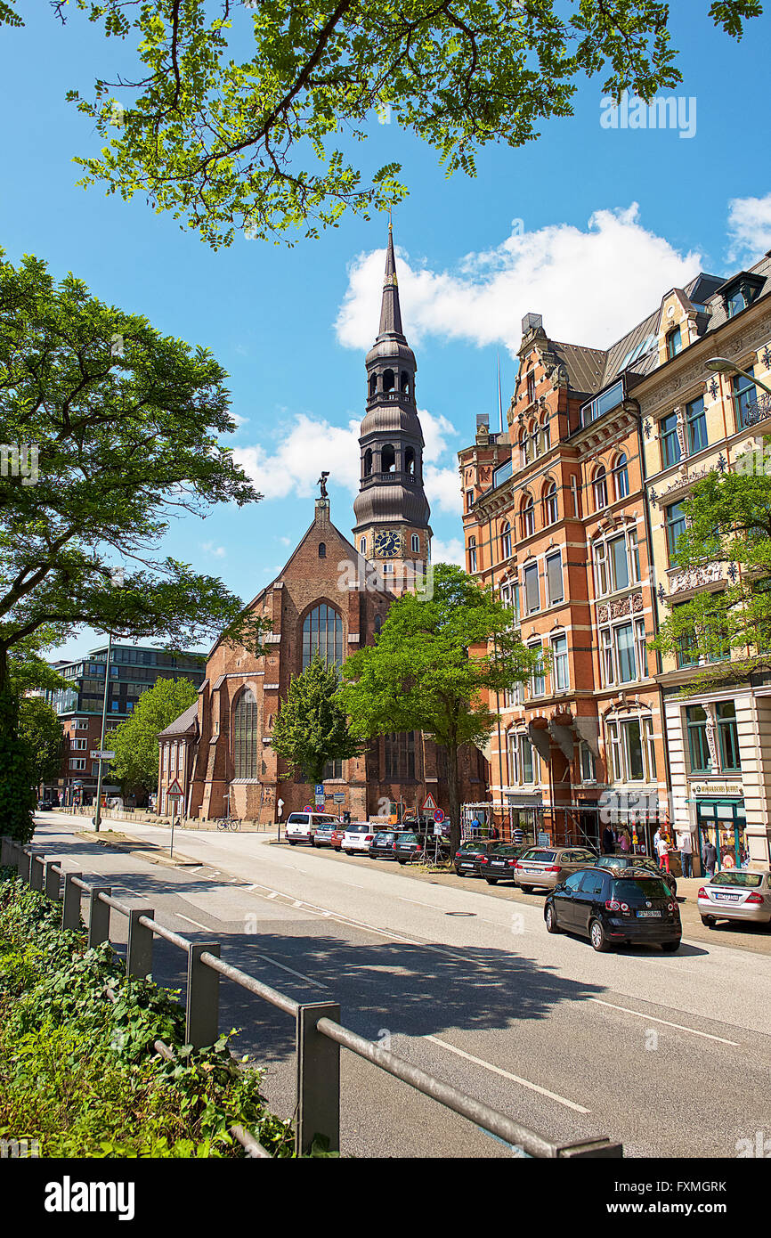
<path fill-rule="evenodd" d="M 280 993 L 239 967 L 220 958 L 220 943 L 192 942 L 158 924 L 155 910 L 113 898 L 109 885 L 85 881 L 79 872 L 67 872 L 45 852 L 22 846 L 2 836 L 0 863 L 15 868 L 27 884 L 50 899 L 62 903 L 62 927 L 80 927 L 80 899 L 89 904 L 88 946 L 110 940 L 110 914 L 127 917 L 126 976 L 144 979 L 152 972 L 155 937 L 161 937 L 187 953 L 187 992 L 184 1039 L 193 1049 L 213 1045 L 219 1036 L 219 980 L 224 977 L 270 1003 L 295 1019 L 297 1107 L 295 1119 L 295 1150 L 307 1155 L 317 1135 L 328 1141 L 330 1151 L 340 1148 L 340 1047 L 377 1066 L 386 1075 L 408 1083 L 473 1122 L 483 1130 L 531 1158 L 619 1158 L 622 1145 L 610 1139 L 585 1139 L 562 1143 L 549 1139 L 489 1106 L 467 1096 L 450 1083 L 428 1075 L 418 1066 L 366 1040 L 340 1024 L 340 1006 L 335 1002 L 299 1003 Z M 62 885 L 61 885 L 62 883 Z M 59 888 L 61 886 L 61 888 Z M 160 1042 L 156 1042 L 156 1049 Z M 168 1046 L 163 1046 L 172 1052 Z M 252 1156 L 269 1156 L 249 1132 L 231 1128 Z M 255 1148 L 256 1145 L 256 1148 Z M 257 1150 L 261 1149 L 261 1150 Z"/>

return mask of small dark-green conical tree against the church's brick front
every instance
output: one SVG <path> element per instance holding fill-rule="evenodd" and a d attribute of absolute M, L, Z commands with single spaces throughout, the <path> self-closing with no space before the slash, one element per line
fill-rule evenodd
<path fill-rule="evenodd" d="M 334 664 L 314 657 L 302 675 L 295 675 L 274 721 L 274 751 L 293 773 L 309 782 L 322 782 L 329 761 L 348 760 L 361 751 L 348 727 L 340 702 L 340 678 Z"/>

